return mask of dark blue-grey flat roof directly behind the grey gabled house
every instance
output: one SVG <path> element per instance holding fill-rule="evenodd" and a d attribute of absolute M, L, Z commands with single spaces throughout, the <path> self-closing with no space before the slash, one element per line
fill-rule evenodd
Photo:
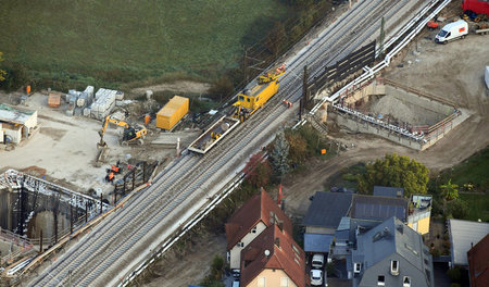
<path fill-rule="evenodd" d="M 385 221 L 392 216 L 405 222 L 409 202 L 404 198 L 353 195 L 351 217 Z"/>

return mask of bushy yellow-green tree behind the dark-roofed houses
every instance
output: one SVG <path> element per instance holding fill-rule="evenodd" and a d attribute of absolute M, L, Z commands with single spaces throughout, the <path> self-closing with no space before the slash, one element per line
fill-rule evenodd
<path fill-rule="evenodd" d="M 404 188 L 404 196 L 426 194 L 429 170 L 422 163 L 396 153 L 386 154 L 365 165 L 366 173 L 359 178 L 359 190 L 372 194 L 374 186 Z"/>

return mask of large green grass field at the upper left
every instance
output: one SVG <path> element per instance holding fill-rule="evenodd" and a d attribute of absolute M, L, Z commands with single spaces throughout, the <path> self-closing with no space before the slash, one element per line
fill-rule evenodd
<path fill-rule="evenodd" d="M 289 13 L 280 0 L 7 0 L 0 51 L 53 87 L 205 80 Z"/>

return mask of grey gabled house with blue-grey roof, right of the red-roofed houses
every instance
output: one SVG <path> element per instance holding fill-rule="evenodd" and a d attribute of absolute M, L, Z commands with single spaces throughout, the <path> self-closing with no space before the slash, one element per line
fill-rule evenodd
<path fill-rule="evenodd" d="M 419 284 L 424 283 L 419 286 L 434 286 L 431 255 L 424 246 L 422 236 L 400 220 L 390 217 L 365 234 L 359 235 L 356 246 L 356 250 L 352 251 L 352 261 L 362 263 L 364 275 L 385 275 L 386 286 L 397 286 L 402 276 L 421 280 Z M 403 260 L 400 262 L 399 276 L 389 273 L 389 259 L 392 258 Z M 384 264 L 386 260 L 389 263 Z M 359 279 L 362 283 L 372 280 L 372 278 Z"/>

